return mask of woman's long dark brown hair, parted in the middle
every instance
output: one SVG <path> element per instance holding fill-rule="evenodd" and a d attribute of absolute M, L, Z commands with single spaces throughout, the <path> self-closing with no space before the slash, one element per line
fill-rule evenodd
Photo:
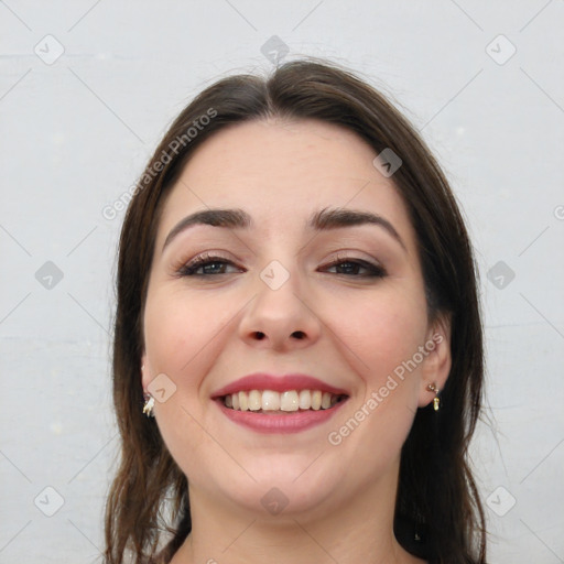
<path fill-rule="evenodd" d="M 202 91 L 169 128 L 129 204 L 119 241 L 113 340 L 121 462 L 107 503 L 106 563 L 122 564 L 127 553 L 135 564 L 155 562 L 158 554 L 167 562 L 192 529 L 187 480 L 154 420 L 142 414 L 142 318 L 163 205 L 196 147 L 229 124 L 270 117 L 335 123 L 378 154 L 391 149 L 403 161 L 393 183 L 416 231 L 430 316 L 452 319 L 452 369 L 441 410 L 417 410 L 403 445 L 394 531 L 406 550 L 430 563 L 481 564 L 485 520 L 467 449 L 480 412 L 482 327 L 460 212 L 402 115 L 349 70 L 312 58 L 286 63 L 265 78 L 223 78 Z"/>

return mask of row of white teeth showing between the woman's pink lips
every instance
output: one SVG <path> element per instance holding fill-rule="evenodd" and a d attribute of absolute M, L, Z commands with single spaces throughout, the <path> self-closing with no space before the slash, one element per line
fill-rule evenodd
<path fill-rule="evenodd" d="M 234 411 L 250 411 L 267 415 L 291 414 L 303 411 L 329 410 L 348 395 L 322 392 L 321 390 L 250 390 L 229 393 L 219 398 Z"/>

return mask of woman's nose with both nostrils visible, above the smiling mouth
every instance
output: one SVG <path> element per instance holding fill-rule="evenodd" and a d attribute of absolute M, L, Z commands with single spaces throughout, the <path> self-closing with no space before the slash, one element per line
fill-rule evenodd
<path fill-rule="evenodd" d="M 310 347 L 318 340 L 322 322 L 313 304 L 300 295 L 296 278 L 291 275 L 276 290 L 258 281 L 257 295 L 246 307 L 239 325 L 240 337 L 248 345 L 288 351 Z"/>

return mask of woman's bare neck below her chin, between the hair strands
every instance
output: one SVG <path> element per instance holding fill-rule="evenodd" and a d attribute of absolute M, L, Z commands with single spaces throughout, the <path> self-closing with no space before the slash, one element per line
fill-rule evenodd
<path fill-rule="evenodd" d="M 171 564 L 415 564 L 393 535 L 397 475 L 307 513 L 259 516 L 189 489 L 193 529 Z"/>

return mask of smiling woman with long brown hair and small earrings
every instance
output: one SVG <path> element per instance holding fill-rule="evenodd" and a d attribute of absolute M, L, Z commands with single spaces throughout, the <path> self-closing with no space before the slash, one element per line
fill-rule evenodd
<path fill-rule="evenodd" d="M 106 562 L 482 563 L 481 386 L 471 248 L 413 128 L 324 62 L 221 79 L 121 232 Z"/>

